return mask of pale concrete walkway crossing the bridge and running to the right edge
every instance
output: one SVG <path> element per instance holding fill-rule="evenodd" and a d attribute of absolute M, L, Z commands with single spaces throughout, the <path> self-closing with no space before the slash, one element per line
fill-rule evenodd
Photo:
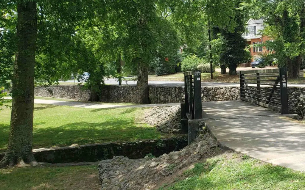
<path fill-rule="evenodd" d="M 206 126 L 223 147 L 305 171 L 305 124 L 242 101 L 203 102 Z"/>

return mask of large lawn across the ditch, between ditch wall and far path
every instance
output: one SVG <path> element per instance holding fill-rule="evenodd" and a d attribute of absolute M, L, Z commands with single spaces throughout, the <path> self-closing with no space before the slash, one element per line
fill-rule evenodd
<path fill-rule="evenodd" d="M 11 110 L 0 112 L 0 151 L 5 151 L 9 137 Z M 168 137 L 136 116 L 145 108 L 89 109 L 49 104 L 35 104 L 33 146 L 56 147 L 73 144 L 118 142 Z"/>

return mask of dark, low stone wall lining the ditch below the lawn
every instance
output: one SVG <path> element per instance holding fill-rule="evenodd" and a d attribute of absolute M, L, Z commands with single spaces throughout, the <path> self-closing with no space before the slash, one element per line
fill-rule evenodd
<path fill-rule="evenodd" d="M 75 147 L 59 147 L 33 150 L 38 162 L 68 163 L 95 162 L 111 159 L 114 156 L 125 156 L 130 159 L 144 158 L 147 154 L 159 157 L 164 153 L 178 151 L 188 145 L 187 136 L 143 140 L 139 142 L 109 142 L 88 144 Z M 5 153 L 0 153 L 0 160 Z"/>

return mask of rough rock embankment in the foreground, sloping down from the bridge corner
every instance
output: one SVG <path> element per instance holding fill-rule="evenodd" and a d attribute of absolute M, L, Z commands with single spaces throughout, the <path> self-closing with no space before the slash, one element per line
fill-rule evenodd
<path fill-rule="evenodd" d="M 202 126 L 201 126 L 202 127 Z M 176 174 L 196 161 L 217 152 L 218 143 L 205 130 L 184 149 L 159 158 L 128 159 L 117 156 L 99 163 L 102 190 L 148 190 L 166 177 Z"/>

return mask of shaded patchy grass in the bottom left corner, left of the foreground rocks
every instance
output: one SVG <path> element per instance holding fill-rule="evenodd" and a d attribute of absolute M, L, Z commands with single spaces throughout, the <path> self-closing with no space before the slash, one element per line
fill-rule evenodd
<path fill-rule="evenodd" d="M 2 190 L 100 190 L 96 166 L 0 169 Z"/>

